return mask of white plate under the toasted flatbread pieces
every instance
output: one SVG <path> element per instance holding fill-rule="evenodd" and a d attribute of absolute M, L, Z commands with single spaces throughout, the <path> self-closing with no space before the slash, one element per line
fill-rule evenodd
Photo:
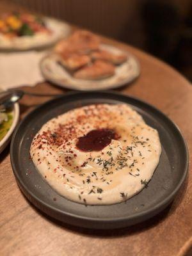
<path fill-rule="evenodd" d="M 105 49 L 114 54 L 120 54 L 123 51 L 111 45 L 100 45 L 100 49 Z M 127 54 L 127 61 L 122 65 L 115 68 L 115 75 L 106 79 L 100 80 L 83 80 L 76 79 L 58 63 L 58 56 L 50 54 L 45 56 L 40 61 L 40 68 L 45 79 L 58 86 L 81 91 L 95 91 L 95 90 L 108 90 L 118 88 L 125 84 L 131 83 L 136 77 L 140 75 L 140 65 L 138 60 L 129 52 Z"/>

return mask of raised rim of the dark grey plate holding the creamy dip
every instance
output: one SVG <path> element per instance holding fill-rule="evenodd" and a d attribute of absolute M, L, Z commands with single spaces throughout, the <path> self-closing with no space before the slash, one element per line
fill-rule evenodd
<path fill-rule="evenodd" d="M 128 95 L 125 95 L 123 93 L 119 93 L 119 92 L 113 92 L 113 91 L 100 91 L 97 93 L 104 93 L 109 94 L 109 95 L 116 95 L 121 96 L 121 97 L 126 97 L 127 99 L 133 99 L 136 100 L 138 102 L 141 102 L 142 104 L 144 104 L 145 106 L 149 107 L 150 109 L 153 109 L 154 111 L 156 111 L 156 113 L 158 113 L 159 115 L 163 116 L 163 118 L 166 119 L 167 122 L 169 122 L 170 124 L 173 125 L 174 129 L 179 132 L 180 134 L 180 138 L 182 139 L 183 142 L 183 146 L 185 148 L 185 153 L 186 153 L 186 159 L 185 159 L 185 166 L 184 166 L 184 172 L 182 174 L 182 178 L 179 180 L 177 186 L 175 187 L 175 189 L 173 189 L 172 193 L 170 193 L 170 195 L 168 195 L 166 198 L 164 198 L 164 200 L 162 200 L 161 202 L 159 202 L 159 204 L 155 205 L 154 207 L 152 207 L 151 209 L 147 210 L 147 211 L 142 211 L 142 212 L 138 212 L 135 214 L 132 214 L 131 216 L 128 216 L 127 218 L 93 218 L 93 217 L 86 217 L 86 216 L 80 216 L 78 214 L 72 214 L 70 212 L 63 212 L 60 211 L 60 209 L 56 209 L 55 207 L 50 206 L 49 204 L 46 204 L 43 200 L 41 200 L 40 198 L 38 198 L 36 195 L 33 194 L 33 192 L 29 191 L 29 189 L 27 188 L 27 186 L 24 184 L 24 182 L 22 182 L 22 180 L 19 177 L 19 174 L 17 173 L 17 169 L 15 166 L 15 161 L 14 161 L 14 156 L 13 156 L 13 152 L 14 152 L 14 143 L 15 143 L 15 137 L 17 136 L 17 132 L 19 132 L 19 128 L 20 125 L 22 125 L 22 123 L 27 120 L 28 118 L 30 118 L 31 115 L 34 115 L 37 111 L 39 111 L 42 107 L 47 106 L 49 104 L 51 104 L 52 102 L 54 102 L 56 99 L 60 99 L 63 97 L 63 99 L 65 97 L 68 96 L 72 96 L 72 95 L 76 95 L 76 94 L 81 94 L 81 93 L 92 93 L 92 92 L 68 92 L 65 93 L 65 95 L 61 95 L 59 97 L 56 97 L 52 100 L 49 100 L 48 102 L 45 102 L 44 104 L 38 106 L 37 108 L 33 109 L 33 111 L 31 111 L 28 115 L 25 116 L 25 118 L 20 122 L 19 125 L 17 125 L 17 128 L 15 129 L 13 136 L 12 136 L 12 142 L 11 142 L 11 146 L 10 146 L 10 160 L 11 160 L 11 164 L 12 164 L 12 169 L 13 169 L 13 173 L 15 175 L 15 178 L 17 180 L 17 182 L 19 183 L 19 187 L 22 190 L 22 192 L 24 193 L 24 195 L 27 196 L 27 198 L 29 199 L 30 202 L 32 202 L 33 200 L 31 200 L 31 198 L 34 198 L 36 200 L 36 202 L 32 202 L 33 204 L 35 204 L 36 207 L 38 207 L 38 209 L 40 209 L 41 211 L 45 212 L 46 214 L 52 216 L 53 218 L 56 218 L 58 220 L 60 220 L 60 218 L 57 218 L 56 216 L 54 216 L 54 214 L 51 214 L 50 212 L 47 213 L 47 211 L 44 211 L 44 209 L 42 209 L 42 207 L 40 207 L 39 205 L 43 205 L 45 208 L 47 207 L 47 209 L 49 209 L 49 211 L 56 211 L 57 214 L 63 214 L 67 217 L 70 218 L 75 218 L 76 220 L 84 220 L 84 221 L 98 221 L 100 223 L 111 223 L 111 222 L 115 222 L 115 223 L 119 223 L 121 221 L 129 221 L 129 220 L 135 220 L 137 218 L 141 218 L 143 217 L 143 220 L 147 220 L 148 218 L 151 218 L 152 216 L 156 215 L 157 213 L 159 213 L 162 209 L 164 209 L 164 207 L 166 207 L 168 204 L 170 204 L 170 202 L 172 202 L 174 196 L 177 194 L 177 192 L 180 189 L 180 186 L 182 185 L 182 183 L 184 182 L 184 179 L 186 179 L 186 175 L 188 173 L 188 166 L 189 166 L 189 152 L 188 152 L 188 146 L 186 144 L 186 141 L 184 140 L 184 136 L 182 136 L 182 132 L 180 132 L 179 127 L 172 121 L 170 120 L 170 118 L 168 118 L 168 116 L 166 116 L 163 112 L 161 112 L 159 109 L 157 109 L 156 107 L 148 104 L 147 102 L 138 99 L 137 97 L 130 97 Z M 65 221 L 64 221 L 65 222 Z M 66 221 L 67 223 L 72 224 L 72 221 Z M 141 221 L 137 221 L 136 223 L 139 223 Z M 76 224 L 72 224 L 72 225 L 76 225 Z M 82 225 L 79 225 L 81 227 L 83 227 Z M 117 227 L 114 228 L 118 228 L 118 227 L 125 227 L 126 225 L 117 225 Z M 97 227 L 95 227 L 97 228 Z M 104 227 L 106 228 L 111 228 L 111 227 Z"/>

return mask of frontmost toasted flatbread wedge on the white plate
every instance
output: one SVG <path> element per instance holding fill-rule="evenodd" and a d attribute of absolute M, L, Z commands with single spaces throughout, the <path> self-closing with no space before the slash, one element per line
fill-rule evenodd
<path fill-rule="evenodd" d="M 106 61 L 97 60 L 92 65 L 77 70 L 74 77 L 77 79 L 104 79 L 115 74 L 115 67 Z"/>

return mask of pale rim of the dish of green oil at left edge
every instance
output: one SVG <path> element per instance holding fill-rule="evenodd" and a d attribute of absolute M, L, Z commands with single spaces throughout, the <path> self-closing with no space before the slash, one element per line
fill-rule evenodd
<path fill-rule="evenodd" d="M 12 133 L 15 130 L 16 125 L 19 122 L 19 104 L 15 103 L 13 106 L 13 122 L 9 129 L 9 131 L 6 133 L 6 135 L 3 137 L 3 139 L 0 141 L 0 153 L 4 150 L 4 148 L 8 145 L 12 138 Z"/>

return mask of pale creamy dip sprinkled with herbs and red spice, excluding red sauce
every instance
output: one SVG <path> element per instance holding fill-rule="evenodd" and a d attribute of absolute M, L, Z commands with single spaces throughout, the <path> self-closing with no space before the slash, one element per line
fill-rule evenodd
<path fill-rule="evenodd" d="M 115 134 L 106 147 L 77 147 L 89 132 L 102 129 Z M 126 104 L 95 104 L 49 120 L 33 139 L 30 153 L 42 177 L 65 198 L 116 204 L 136 195 L 152 178 L 161 143 L 158 132 Z"/>

